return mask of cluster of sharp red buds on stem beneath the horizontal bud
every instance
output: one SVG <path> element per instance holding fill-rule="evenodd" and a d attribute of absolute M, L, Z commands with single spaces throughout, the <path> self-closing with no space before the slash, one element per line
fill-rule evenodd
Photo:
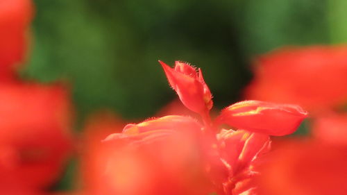
<path fill-rule="evenodd" d="M 223 182 L 226 194 L 242 194 L 253 191 L 253 170 L 257 157 L 271 148 L 269 135 L 246 130 L 221 130 L 217 135 L 220 159 L 228 168 L 228 180 Z"/>

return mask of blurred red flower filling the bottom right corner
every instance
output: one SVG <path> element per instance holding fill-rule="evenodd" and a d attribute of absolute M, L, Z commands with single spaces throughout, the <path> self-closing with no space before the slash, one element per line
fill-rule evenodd
<path fill-rule="evenodd" d="M 346 194 L 346 145 L 313 140 L 285 144 L 260 168 L 260 195 Z"/>

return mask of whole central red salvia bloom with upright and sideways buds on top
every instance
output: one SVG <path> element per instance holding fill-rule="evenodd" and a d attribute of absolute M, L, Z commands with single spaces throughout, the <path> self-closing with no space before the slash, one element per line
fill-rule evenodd
<path fill-rule="evenodd" d="M 112 180 L 108 192 L 255 194 L 253 178 L 260 173 L 253 167 L 262 164 L 258 157 L 269 151 L 269 136 L 293 133 L 307 112 L 298 105 L 242 101 L 213 120 L 212 95 L 201 69 L 185 62 L 176 62 L 174 68 L 160 64 L 180 101 L 200 117 L 149 119 L 104 139 L 113 146 L 105 172 Z"/>

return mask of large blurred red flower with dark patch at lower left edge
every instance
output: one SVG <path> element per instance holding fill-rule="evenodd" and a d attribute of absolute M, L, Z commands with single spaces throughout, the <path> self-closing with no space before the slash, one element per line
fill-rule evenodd
<path fill-rule="evenodd" d="M 0 193 L 48 187 L 71 150 L 67 90 L 0 83 L 0 104 Z"/>

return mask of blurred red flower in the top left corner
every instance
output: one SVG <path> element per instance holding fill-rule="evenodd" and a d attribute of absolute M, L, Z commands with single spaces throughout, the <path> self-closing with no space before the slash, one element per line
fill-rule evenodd
<path fill-rule="evenodd" d="M 15 68 L 23 62 L 32 17 L 30 0 L 0 1 L 0 80 L 12 78 Z"/>

